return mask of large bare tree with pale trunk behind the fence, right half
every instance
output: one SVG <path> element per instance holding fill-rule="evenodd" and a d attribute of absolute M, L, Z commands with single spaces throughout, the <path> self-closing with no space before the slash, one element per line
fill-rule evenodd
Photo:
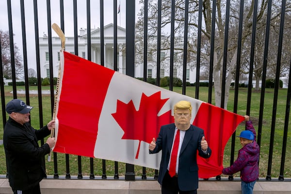
<path fill-rule="evenodd" d="M 143 2 L 143 0 L 141 0 Z M 252 35 L 253 27 L 253 12 L 254 12 L 254 0 L 245 1 L 244 7 L 244 18 L 243 18 L 243 32 L 242 32 L 242 73 L 250 64 L 249 60 L 249 50 L 250 50 L 250 40 Z M 257 22 L 260 22 L 265 16 L 267 8 L 267 0 L 259 1 Z M 175 50 L 183 51 L 183 47 L 180 45 L 181 38 L 184 35 L 184 0 L 176 0 L 175 2 Z M 192 52 L 193 55 L 190 57 L 192 62 L 195 62 L 195 56 L 197 52 L 197 27 L 198 27 L 198 0 L 189 0 L 189 37 L 188 37 L 188 51 Z M 157 0 L 149 0 L 148 3 L 148 35 L 150 37 L 157 36 L 157 11 L 158 5 Z M 216 4 L 216 19 L 215 19 L 215 46 L 214 46 L 214 60 L 213 60 L 213 81 L 215 90 L 215 105 L 221 106 L 221 87 L 222 87 L 222 72 L 223 72 L 223 62 L 224 62 L 224 40 L 225 40 L 225 12 L 226 12 L 226 0 L 219 0 Z M 279 7 L 275 7 L 273 12 L 276 16 L 280 13 Z M 210 65 L 210 39 L 211 39 L 211 20 L 212 20 L 212 1 L 203 1 L 203 25 L 202 25 L 202 40 L 201 40 L 201 62 L 200 65 Z M 229 88 L 231 80 L 234 78 L 236 72 L 236 62 L 237 62 L 237 42 L 238 42 L 238 24 L 240 15 L 240 2 L 231 1 L 230 5 L 230 17 L 229 17 L 229 34 L 228 34 L 228 45 L 227 45 L 227 72 L 226 72 L 226 94 L 224 107 L 227 107 Z M 275 16 L 273 16 L 275 17 Z M 170 49 L 170 34 L 168 26 L 171 24 L 171 1 L 162 1 L 162 49 Z M 143 44 L 143 9 L 139 15 L 139 20 L 137 22 L 137 44 Z M 150 42 L 150 41 L 148 41 Z M 156 46 L 148 47 L 148 52 L 155 52 Z M 137 49 L 137 63 L 143 61 L 143 47 Z M 140 52 L 139 52 L 140 51 Z M 258 50 L 259 55 L 263 55 L 261 50 Z M 140 57 L 140 58 L 139 58 Z M 187 59 L 188 60 L 188 59 Z M 196 65 L 195 63 L 191 65 Z M 206 67 L 207 69 L 207 67 Z M 244 72 L 246 73 L 246 72 Z M 252 76 L 252 75 L 250 75 Z"/>

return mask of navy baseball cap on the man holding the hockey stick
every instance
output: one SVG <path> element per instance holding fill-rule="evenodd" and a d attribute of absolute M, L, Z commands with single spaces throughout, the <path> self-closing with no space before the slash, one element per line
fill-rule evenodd
<path fill-rule="evenodd" d="M 13 99 L 7 103 L 6 112 L 8 114 L 11 114 L 11 113 L 26 114 L 26 113 L 29 113 L 32 110 L 32 108 L 33 108 L 32 106 L 26 105 L 25 102 L 22 100 Z"/>

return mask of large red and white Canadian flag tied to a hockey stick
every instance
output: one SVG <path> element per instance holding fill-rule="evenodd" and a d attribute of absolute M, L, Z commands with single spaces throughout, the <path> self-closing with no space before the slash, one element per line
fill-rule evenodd
<path fill-rule="evenodd" d="M 191 123 L 204 129 L 212 150 L 197 157 L 199 178 L 221 174 L 226 143 L 244 117 L 203 101 L 61 52 L 54 152 L 159 169 L 161 154 L 148 146 L 162 125 L 174 122 L 173 106 L 188 100 Z"/>

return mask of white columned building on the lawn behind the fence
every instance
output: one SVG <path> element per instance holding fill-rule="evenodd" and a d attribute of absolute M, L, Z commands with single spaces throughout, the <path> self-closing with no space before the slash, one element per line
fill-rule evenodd
<path fill-rule="evenodd" d="M 85 29 L 80 29 L 80 34 L 78 35 L 78 55 L 84 59 L 88 58 L 87 53 L 87 34 Z M 41 77 L 49 77 L 49 39 L 46 35 L 39 38 L 39 51 L 40 51 L 40 66 L 41 66 Z M 126 73 L 126 29 L 122 27 L 117 27 L 117 45 L 118 45 L 118 55 L 117 55 L 117 67 L 120 73 Z M 52 37 L 52 64 L 53 64 L 53 77 L 58 75 L 58 66 L 60 62 L 60 49 L 61 49 L 61 39 L 60 37 Z M 65 38 L 65 50 L 70 53 L 74 53 L 74 37 Z M 161 58 L 169 56 L 169 51 L 161 51 Z M 100 29 L 91 30 L 91 61 L 97 64 L 101 63 L 100 56 Z M 104 66 L 110 69 L 114 67 L 114 56 L 113 56 L 113 24 L 104 26 Z M 169 61 L 164 61 L 163 63 L 169 63 Z M 135 77 L 142 78 L 144 75 L 144 67 L 142 63 L 135 64 Z M 157 65 L 153 63 L 147 63 L 147 78 L 157 77 Z M 182 65 L 175 68 L 173 76 L 178 77 L 182 80 Z M 161 67 L 160 77 L 163 78 L 169 76 L 169 69 L 164 69 Z M 194 83 L 196 79 L 196 69 L 188 68 L 186 69 L 186 81 Z"/>

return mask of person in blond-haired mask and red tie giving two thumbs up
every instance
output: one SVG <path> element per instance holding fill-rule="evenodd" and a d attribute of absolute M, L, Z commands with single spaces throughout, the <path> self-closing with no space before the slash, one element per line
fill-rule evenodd
<path fill-rule="evenodd" d="M 158 182 L 162 194 L 197 194 L 197 152 L 209 158 L 211 149 L 203 129 L 191 125 L 192 105 L 179 101 L 174 105 L 174 123 L 161 127 L 157 140 L 153 138 L 149 153 L 162 150 Z"/>

